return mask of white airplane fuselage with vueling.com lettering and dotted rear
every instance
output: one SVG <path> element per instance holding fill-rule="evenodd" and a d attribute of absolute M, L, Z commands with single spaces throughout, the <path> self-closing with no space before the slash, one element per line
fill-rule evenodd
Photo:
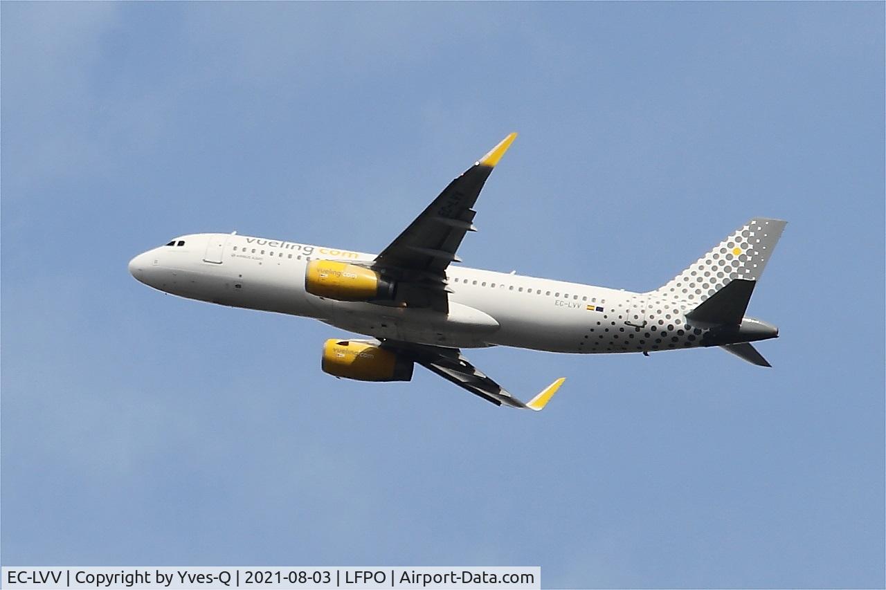
<path fill-rule="evenodd" d="M 183 245 L 177 245 L 182 243 Z M 373 260 L 362 252 L 236 234 L 194 234 L 139 254 L 142 283 L 189 299 L 312 317 L 373 338 L 426 345 L 517 346 L 559 353 L 624 353 L 701 345 L 684 330 L 685 302 L 655 292 L 451 265 L 449 313 L 316 297 L 305 290 L 309 260 Z"/>

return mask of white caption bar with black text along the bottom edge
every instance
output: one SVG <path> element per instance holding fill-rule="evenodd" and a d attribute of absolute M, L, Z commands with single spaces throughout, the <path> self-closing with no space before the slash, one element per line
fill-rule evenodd
<path fill-rule="evenodd" d="M 540 588 L 540 567 L 4 567 L 4 588 Z"/>

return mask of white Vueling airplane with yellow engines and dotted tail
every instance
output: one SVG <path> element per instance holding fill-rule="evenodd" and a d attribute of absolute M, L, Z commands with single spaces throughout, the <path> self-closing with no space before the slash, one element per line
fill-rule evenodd
<path fill-rule="evenodd" d="M 324 372 L 409 381 L 417 364 L 497 406 L 540 410 L 563 384 L 518 400 L 462 354 L 515 346 L 556 353 L 649 353 L 719 346 L 770 367 L 751 342 L 778 328 L 749 317 L 750 296 L 786 221 L 754 217 L 671 281 L 633 292 L 455 266 L 486 179 L 511 133 L 450 182 L 378 254 L 288 240 L 190 234 L 138 254 L 141 283 L 188 299 L 315 318 L 369 338 L 330 338 Z"/>

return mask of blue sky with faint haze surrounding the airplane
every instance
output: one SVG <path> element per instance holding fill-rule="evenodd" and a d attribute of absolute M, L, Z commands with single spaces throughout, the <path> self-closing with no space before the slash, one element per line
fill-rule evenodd
<path fill-rule="evenodd" d="M 545 586 L 882 587 L 882 3 L 19 4 L 2 11 L 5 564 L 538 564 Z M 789 221 L 722 351 L 469 357 L 176 299 L 231 231 L 376 252 L 509 131 L 460 255 L 647 290 Z"/>

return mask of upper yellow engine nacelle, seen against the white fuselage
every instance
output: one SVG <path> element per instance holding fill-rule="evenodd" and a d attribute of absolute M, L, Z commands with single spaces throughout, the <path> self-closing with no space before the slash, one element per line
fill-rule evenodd
<path fill-rule="evenodd" d="M 310 260 L 305 268 L 305 291 L 338 301 L 393 299 L 393 283 L 370 268 L 338 260 Z"/>

